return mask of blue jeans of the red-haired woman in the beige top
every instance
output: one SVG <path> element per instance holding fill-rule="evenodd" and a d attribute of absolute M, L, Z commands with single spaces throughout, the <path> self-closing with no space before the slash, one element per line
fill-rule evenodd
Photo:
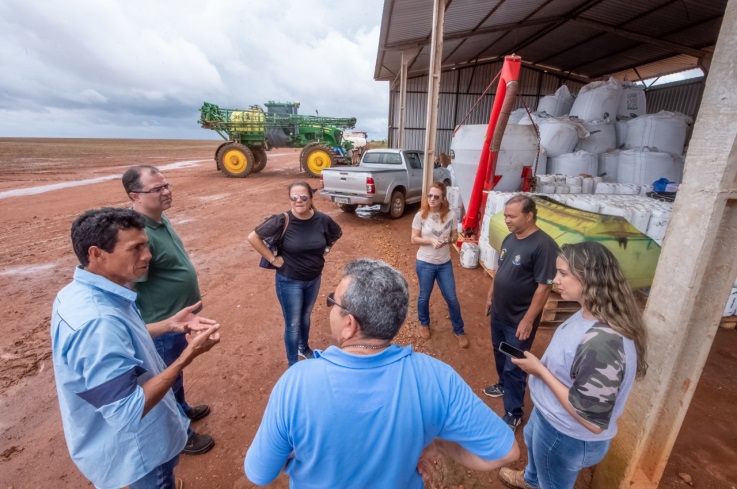
<path fill-rule="evenodd" d="M 438 281 L 440 293 L 448 304 L 450 323 L 455 334 L 463 333 L 463 318 L 461 305 L 456 297 L 456 282 L 453 277 L 453 263 L 448 260 L 442 265 L 435 265 L 426 261 L 417 260 L 415 264 L 417 279 L 420 282 L 420 295 L 417 297 L 417 316 L 420 325 L 430 326 L 430 294 L 435 281 Z"/>

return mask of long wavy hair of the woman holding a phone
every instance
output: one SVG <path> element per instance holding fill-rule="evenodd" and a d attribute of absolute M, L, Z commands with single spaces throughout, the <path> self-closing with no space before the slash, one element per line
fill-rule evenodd
<path fill-rule="evenodd" d="M 583 305 L 599 321 L 635 342 L 637 377 L 647 372 L 647 330 L 632 289 L 611 251 L 586 241 L 565 244 L 559 256 L 583 286 Z"/>

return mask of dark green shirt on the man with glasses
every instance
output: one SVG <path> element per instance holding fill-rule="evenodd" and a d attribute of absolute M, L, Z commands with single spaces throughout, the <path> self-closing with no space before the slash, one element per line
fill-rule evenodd
<path fill-rule="evenodd" d="M 200 300 L 197 272 L 184 244 L 162 214 L 161 222 L 141 214 L 146 221 L 151 261 L 148 273 L 136 281 L 136 304 L 144 322 L 168 319 Z"/>

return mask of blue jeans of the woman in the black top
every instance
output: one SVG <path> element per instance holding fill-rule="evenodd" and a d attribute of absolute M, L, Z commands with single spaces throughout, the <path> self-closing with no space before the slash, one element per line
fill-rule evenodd
<path fill-rule="evenodd" d="M 284 346 L 287 362 L 297 363 L 297 353 L 309 347 L 310 316 L 320 291 L 320 279 L 292 280 L 276 274 L 276 297 L 284 315 Z"/>

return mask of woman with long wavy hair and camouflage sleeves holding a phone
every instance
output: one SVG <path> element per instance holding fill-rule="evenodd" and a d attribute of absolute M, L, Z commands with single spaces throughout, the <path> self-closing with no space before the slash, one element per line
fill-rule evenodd
<path fill-rule="evenodd" d="M 525 426 L 524 471 L 501 479 L 524 489 L 573 488 L 617 433 L 617 419 L 636 377 L 645 375 L 642 314 L 614 255 L 598 243 L 563 245 L 553 283 L 581 310 L 553 335 L 542 359 L 513 359 L 529 373 L 535 408 Z"/>

